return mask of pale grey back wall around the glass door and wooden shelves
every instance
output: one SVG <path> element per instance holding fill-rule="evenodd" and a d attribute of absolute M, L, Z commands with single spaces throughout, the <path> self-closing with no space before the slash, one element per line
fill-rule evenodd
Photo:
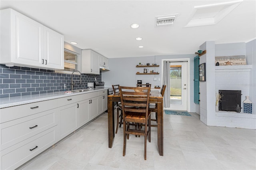
<path fill-rule="evenodd" d="M 190 58 L 190 111 L 196 111 L 194 101 L 194 57 L 195 54 L 184 55 L 158 55 L 146 57 L 126 57 L 126 58 L 110 58 L 108 65 L 110 71 L 102 71 L 102 81 L 105 82 L 105 87 L 111 87 L 113 84 L 124 86 L 136 86 L 137 80 L 142 80 L 142 83 L 151 83 L 154 85 L 162 85 L 162 59 L 177 59 Z M 139 63 L 146 64 L 156 63 L 159 67 L 148 67 L 149 71 L 159 72 L 159 75 L 136 75 L 136 72 L 143 72 L 143 67 L 136 67 Z M 156 77 L 157 81 L 153 81 Z M 160 78 L 160 81 L 158 80 Z"/>

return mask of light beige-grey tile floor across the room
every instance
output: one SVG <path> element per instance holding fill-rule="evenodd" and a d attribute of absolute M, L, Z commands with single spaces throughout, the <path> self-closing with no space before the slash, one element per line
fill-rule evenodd
<path fill-rule="evenodd" d="M 190 116 L 164 114 L 164 156 L 159 156 L 152 127 L 144 160 L 144 138 L 131 136 L 122 156 L 119 128 L 108 148 L 107 113 L 42 154 L 23 170 L 255 170 L 256 130 L 209 127 Z"/>

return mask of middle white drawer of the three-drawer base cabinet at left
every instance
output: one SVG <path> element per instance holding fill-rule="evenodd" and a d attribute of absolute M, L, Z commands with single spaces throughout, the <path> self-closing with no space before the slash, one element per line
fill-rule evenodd
<path fill-rule="evenodd" d="M 56 123 L 55 109 L 0 124 L 1 150 L 34 136 Z"/>

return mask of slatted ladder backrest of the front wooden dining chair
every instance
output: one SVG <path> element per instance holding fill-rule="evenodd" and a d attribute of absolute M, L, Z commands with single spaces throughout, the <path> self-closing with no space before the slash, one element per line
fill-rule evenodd
<path fill-rule="evenodd" d="M 126 112 L 148 113 L 150 87 L 119 86 L 124 114 Z M 146 114 L 147 120 L 148 114 Z"/>

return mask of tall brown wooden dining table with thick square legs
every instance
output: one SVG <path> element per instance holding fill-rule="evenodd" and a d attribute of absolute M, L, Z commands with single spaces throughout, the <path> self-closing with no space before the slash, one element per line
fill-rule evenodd
<path fill-rule="evenodd" d="M 121 101 L 120 94 L 108 95 L 108 147 L 112 148 L 114 142 L 114 102 Z M 150 103 L 157 104 L 157 145 L 159 155 L 164 156 L 164 128 L 163 128 L 163 97 L 159 91 L 154 90 L 150 92 Z"/>

